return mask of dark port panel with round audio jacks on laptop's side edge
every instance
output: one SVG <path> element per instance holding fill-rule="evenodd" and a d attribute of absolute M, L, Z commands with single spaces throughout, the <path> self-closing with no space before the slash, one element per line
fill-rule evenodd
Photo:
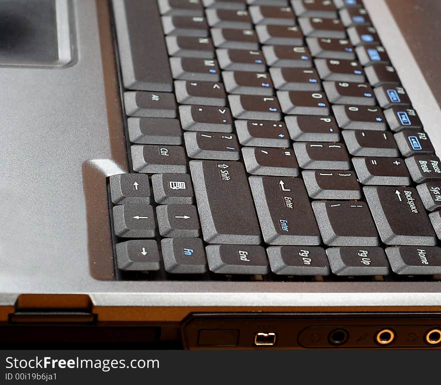
<path fill-rule="evenodd" d="M 234 330 L 227 349 L 441 348 L 441 313 L 194 313 L 181 328 L 190 349 L 201 330 Z M 437 333 L 437 331 L 439 333 Z M 439 337 L 439 341 L 438 341 Z"/>

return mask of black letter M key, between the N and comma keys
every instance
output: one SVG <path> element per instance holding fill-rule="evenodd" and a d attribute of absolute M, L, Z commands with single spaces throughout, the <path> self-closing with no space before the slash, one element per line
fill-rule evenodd
<path fill-rule="evenodd" d="M 173 78 L 181 80 L 219 81 L 217 61 L 193 57 L 170 57 Z"/>

